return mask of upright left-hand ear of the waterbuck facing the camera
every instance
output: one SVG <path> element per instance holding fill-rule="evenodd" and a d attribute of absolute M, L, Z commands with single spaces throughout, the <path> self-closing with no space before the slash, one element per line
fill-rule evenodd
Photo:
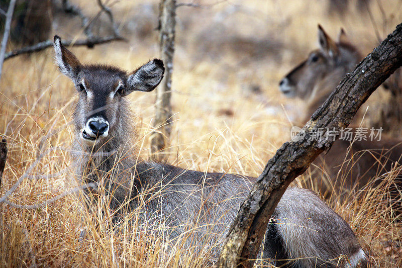
<path fill-rule="evenodd" d="M 53 47 L 60 71 L 75 80 L 81 66 L 79 60 L 61 44 L 61 38 L 58 35 L 54 36 Z"/>

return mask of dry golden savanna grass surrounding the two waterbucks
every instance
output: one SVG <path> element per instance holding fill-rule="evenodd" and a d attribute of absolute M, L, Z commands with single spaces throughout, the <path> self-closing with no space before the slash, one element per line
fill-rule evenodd
<path fill-rule="evenodd" d="M 88 16 L 96 15 L 95 0 L 73 2 Z M 200 7 L 177 10 L 174 116 L 167 161 L 183 168 L 250 176 L 258 176 L 276 149 L 290 139 L 292 121 L 304 111 L 303 102 L 281 95 L 278 82 L 317 47 L 317 24 L 332 36 L 343 27 L 366 55 L 378 38 L 384 38 L 402 20 L 400 0 L 371 1 L 370 12 L 359 10 L 355 1 L 350 1 L 343 14 L 328 12 L 327 1 L 194 3 Z M 79 60 L 134 70 L 159 57 L 154 30 L 158 2 L 121 0 L 109 4 L 128 41 L 93 49 L 71 48 Z M 49 38 L 53 34 L 63 39 L 82 36 L 79 20 L 59 13 L 54 11 Z M 103 16 L 100 32 L 110 30 L 104 27 L 107 17 Z M 11 41 L 8 50 L 17 47 Z M 113 212 L 100 209 L 108 200 L 99 201 L 99 213 L 86 211 L 77 191 L 42 204 L 77 186 L 69 149 L 70 111 L 76 91 L 58 71 L 53 53 L 47 49 L 4 64 L 0 134 L 7 138 L 9 156 L 0 197 L 20 178 L 23 181 L 8 198 L 14 205 L 0 204 L 0 266 L 213 265 L 211 245 L 195 241 L 193 248 L 183 246 L 185 239 L 191 239 L 191 229 L 176 242 L 174 250 L 167 250 L 163 230 L 145 233 L 144 229 L 152 226 L 137 224 L 137 211 L 113 227 Z M 150 155 L 154 94 L 135 92 L 128 97 L 137 114 L 133 120 L 139 129 L 137 145 L 143 158 Z M 387 98 L 379 88 L 364 107 L 367 114 L 375 112 L 376 105 Z M 386 202 L 391 178 L 392 174 L 385 174 L 379 186 L 354 192 L 343 202 L 327 200 L 350 224 L 369 253 L 372 267 L 402 266 L 402 224 Z M 303 187 L 308 180 L 311 177 L 303 175 L 293 184 Z M 87 234 L 80 241 L 84 227 Z"/>

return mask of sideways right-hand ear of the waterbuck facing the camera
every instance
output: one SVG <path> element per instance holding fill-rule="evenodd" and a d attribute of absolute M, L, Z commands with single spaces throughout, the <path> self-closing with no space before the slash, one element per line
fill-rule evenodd
<path fill-rule="evenodd" d="M 165 68 L 163 61 L 154 59 L 142 65 L 127 78 L 127 91 L 125 95 L 133 91 L 152 91 L 162 80 Z"/>

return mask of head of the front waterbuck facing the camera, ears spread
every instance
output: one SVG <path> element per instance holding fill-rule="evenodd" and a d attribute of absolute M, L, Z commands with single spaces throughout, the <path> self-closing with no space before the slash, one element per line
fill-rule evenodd
<path fill-rule="evenodd" d="M 78 92 L 74 111 L 75 130 L 89 146 L 104 143 L 126 128 L 122 120 L 127 113 L 125 97 L 133 91 L 152 91 L 162 80 L 163 62 L 154 59 L 131 73 L 117 67 L 83 65 L 66 49 L 60 37 L 54 37 L 54 50 L 60 71 L 73 81 Z M 108 138 L 108 135 L 110 136 Z"/>

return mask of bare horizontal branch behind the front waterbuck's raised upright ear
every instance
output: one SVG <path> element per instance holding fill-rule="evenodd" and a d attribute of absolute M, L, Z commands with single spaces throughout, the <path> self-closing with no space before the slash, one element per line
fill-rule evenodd
<path fill-rule="evenodd" d="M 92 39 L 77 40 L 75 42 L 73 42 L 73 40 L 62 40 L 61 42 L 64 46 L 87 46 L 89 48 L 92 48 L 95 45 L 105 44 L 112 41 L 127 41 L 127 40 L 121 36 L 106 36 L 106 37 L 93 37 Z M 21 54 L 41 51 L 51 46 L 53 46 L 53 41 L 46 40 L 33 46 L 10 51 L 5 55 L 5 60 Z"/>

